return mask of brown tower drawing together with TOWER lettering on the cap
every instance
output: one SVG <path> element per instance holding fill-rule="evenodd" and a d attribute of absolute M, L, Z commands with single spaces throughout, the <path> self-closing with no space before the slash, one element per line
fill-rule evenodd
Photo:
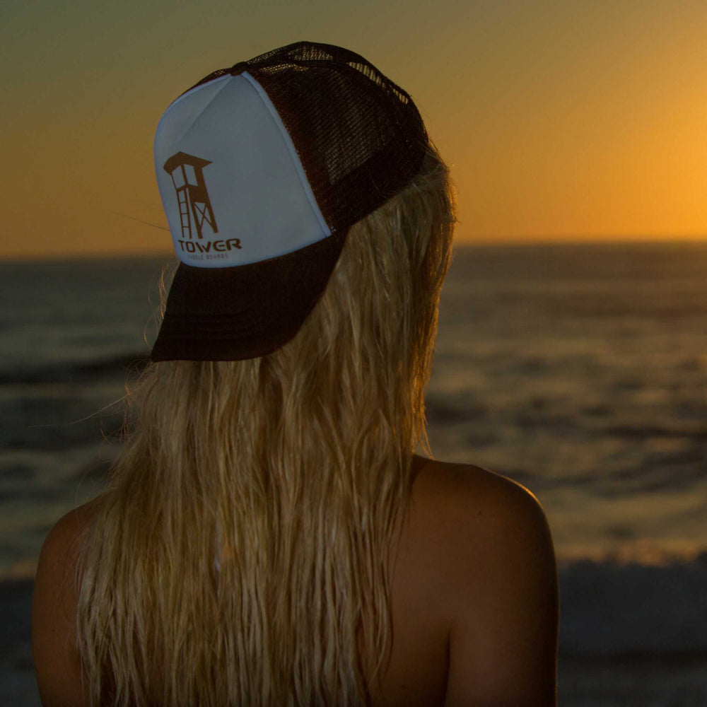
<path fill-rule="evenodd" d="M 196 254 L 217 251 L 224 253 L 232 248 L 240 249 L 238 238 L 207 240 L 206 243 L 199 243 L 204 238 L 204 223 L 208 224 L 212 233 L 218 233 L 216 216 L 214 216 L 214 209 L 211 208 L 211 199 L 209 199 L 209 192 L 206 189 L 202 172 L 204 167 L 210 164 L 209 160 L 187 155 L 185 152 L 177 152 L 163 165 L 165 172 L 172 177 L 172 183 L 175 192 L 177 192 L 182 227 L 182 238 L 178 240 L 178 243 L 182 252 Z M 194 232 L 197 234 L 196 241 L 193 240 Z M 203 258 L 203 256 L 196 257 Z M 217 255 L 216 257 L 223 258 L 226 255 Z"/>

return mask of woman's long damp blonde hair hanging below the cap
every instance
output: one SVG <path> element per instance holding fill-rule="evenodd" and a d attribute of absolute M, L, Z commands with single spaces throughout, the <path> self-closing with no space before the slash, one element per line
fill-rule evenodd
<path fill-rule="evenodd" d="M 430 144 L 288 344 L 141 374 L 82 543 L 90 704 L 370 702 L 454 222 Z"/>

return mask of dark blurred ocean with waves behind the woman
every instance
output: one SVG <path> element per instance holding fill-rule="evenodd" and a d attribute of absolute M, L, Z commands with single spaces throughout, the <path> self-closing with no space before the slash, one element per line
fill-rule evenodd
<path fill-rule="evenodd" d="M 166 262 L 0 263 L 0 704 L 39 704 L 37 554 L 119 452 Z M 457 247 L 426 406 L 547 513 L 559 703 L 707 705 L 707 243 Z"/>

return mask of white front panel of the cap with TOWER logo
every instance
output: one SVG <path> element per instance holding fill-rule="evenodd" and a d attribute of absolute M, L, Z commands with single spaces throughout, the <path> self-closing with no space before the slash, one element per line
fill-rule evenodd
<path fill-rule="evenodd" d="M 177 257 L 233 267 L 330 235 L 290 136 L 250 74 L 185 93 L 155 136 L 155 169 Z"/>

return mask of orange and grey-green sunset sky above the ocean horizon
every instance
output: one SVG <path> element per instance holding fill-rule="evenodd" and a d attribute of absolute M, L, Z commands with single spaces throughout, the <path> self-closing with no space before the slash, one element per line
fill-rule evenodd
<path fill-rule="evenodd" d="M 460 243 L 704 240 L 706 37 L 703 0 L 3 0 L 0 257 L 170 249 L 160 115 L 297 40 L 411 93 L 452 165 Z"/>

